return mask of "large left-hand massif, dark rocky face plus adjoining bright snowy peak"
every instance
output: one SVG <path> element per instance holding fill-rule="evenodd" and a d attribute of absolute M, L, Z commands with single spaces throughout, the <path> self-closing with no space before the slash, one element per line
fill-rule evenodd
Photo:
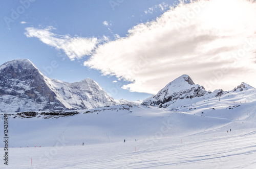
<path fill-rule="evenodd" d="M 0 111 L 92 109 L 116 105 L 92 79 L 67 83 L 44 76 L 26 59 L 0 66 Z"/>

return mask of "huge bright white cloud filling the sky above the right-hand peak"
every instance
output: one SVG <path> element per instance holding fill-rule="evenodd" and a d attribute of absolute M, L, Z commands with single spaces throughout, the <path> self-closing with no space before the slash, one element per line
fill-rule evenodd
<path fill-rule="evenodd" d="M 242 81 L 256 87 L 255 11 L 249 0 L 181 3 L 98 45 L 84 65 L 132 82 L 123 88 L 137 92 L 155 94 L 183 74 L 210 90 Z"/>

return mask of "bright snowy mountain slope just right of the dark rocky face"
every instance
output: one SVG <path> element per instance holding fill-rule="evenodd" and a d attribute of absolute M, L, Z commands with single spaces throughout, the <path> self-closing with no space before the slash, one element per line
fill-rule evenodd
<path fill-rule="evenodd" d="M 75 83 L 48 78 L 48 82 L 56 98 L 68 109 L 92 109 L 117 104 L 98 83 L 90 78 Z"/>

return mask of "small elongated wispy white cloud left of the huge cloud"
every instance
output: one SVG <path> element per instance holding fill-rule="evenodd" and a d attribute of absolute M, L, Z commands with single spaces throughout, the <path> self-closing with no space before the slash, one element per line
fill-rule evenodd
<path fill-rule="evenodd" d="M 55 47 L 57 50 L 63 50 L 71 59 L 80 59 L 85 55 L 91 55 L 95 49 L 97 38 L 70 37 L 69 35 L 57 35 L 52 33 L 55 28 L 36 29 L 26 28 L 27 37 L 36 37 L 47 45 Z"/>

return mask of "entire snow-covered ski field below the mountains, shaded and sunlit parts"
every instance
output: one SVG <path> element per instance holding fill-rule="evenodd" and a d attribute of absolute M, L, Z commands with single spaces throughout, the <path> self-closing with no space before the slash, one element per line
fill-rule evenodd
<path fill-rule="evenodd" d="M 246 92 L 177 110 L 120 105 L 54 119 L 11 115 L 9 165 L 2 159 L 0 168 L 256 168 L 256 98 Z"/>

